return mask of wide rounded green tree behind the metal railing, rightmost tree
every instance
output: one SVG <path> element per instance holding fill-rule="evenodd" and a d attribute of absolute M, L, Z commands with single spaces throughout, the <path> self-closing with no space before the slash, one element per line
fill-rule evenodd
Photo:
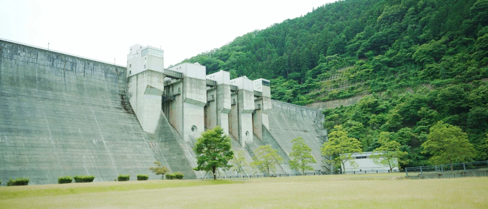
<path fill-rule="evenodd" d="M 443 121 L 437 122 L 430 128 L 427 141 L 421 147 L 423 154 L 431 154 L 432 164 L 451 164 L 471 161 L 475 157 L 475 150 L 467 140 L 467 134 L 462 130 Z"/>

